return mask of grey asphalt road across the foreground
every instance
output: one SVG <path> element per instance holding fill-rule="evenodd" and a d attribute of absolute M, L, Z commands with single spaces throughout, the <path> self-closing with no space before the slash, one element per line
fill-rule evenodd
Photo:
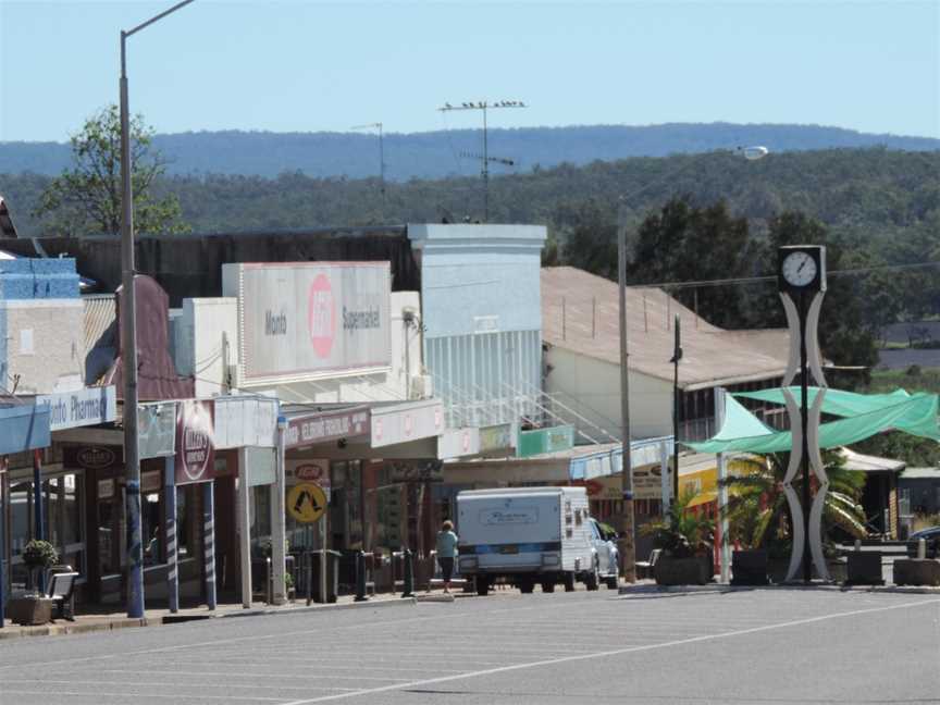
<path fill-rule="evenodd" d="M 0 703 L 940 703 L 940 596 L 611 592 L 0 642 Z"/>

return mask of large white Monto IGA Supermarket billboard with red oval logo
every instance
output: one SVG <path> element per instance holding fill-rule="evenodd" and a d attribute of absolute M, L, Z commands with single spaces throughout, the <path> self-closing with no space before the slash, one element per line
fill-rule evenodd
<path fill-rule="evenodd" d="M 224 264 L 238 298 L 243 383 L 392 363 L 388 262 Z"/>

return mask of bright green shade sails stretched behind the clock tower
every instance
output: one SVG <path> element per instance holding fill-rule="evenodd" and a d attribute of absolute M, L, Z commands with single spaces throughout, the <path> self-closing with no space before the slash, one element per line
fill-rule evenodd
<path fill-rule="evenodd" d="M 816 387 L 811 389 L 808 395 L 811 403 L 817 392 Z M 830 394 L 833 396 L 831 405 L 829 404 Z M 783 403 L 783 392 L 779 388 L 742 393 L 735 396 Z M 794 396 L 799 401 L 799 387 L 795 387 Z M 726 420 L 718 435 L 702 443 L 687 442 L 683 445 L 698 453 L 767 454 L 789 453 L 792 449 L 793 435 L 790 431 L 769 429 L 731 395 L 726 395 L 725 400 Z M 830 408 L 827 409 L 827 406 Z M 843 417 L 838 421 L 819 425 L 819 446 L 822 448 L 851 445 L 892 429 L 904 431 L 911 435 L 940 441 L 940 426 L 937 424 L 938 397 L 936 394 L 917 393 L 910 395 L 903 389 L 899 389 L 892 394 L 866 396 L 832 389 L 826 393 L 822 410 L 833 416 Z"/>

